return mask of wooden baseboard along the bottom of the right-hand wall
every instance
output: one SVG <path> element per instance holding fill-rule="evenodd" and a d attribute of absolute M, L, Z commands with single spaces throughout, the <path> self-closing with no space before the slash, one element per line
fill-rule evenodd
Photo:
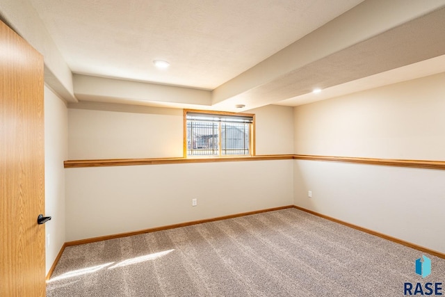
<path fill-rule="evenodd" d="M 375 232 L 373 230 L 366 229 L 364 227 L 353 225 L 351 223 L 344 222 L 343 220 L 338 220 L 337 218 L 332 218 L 331 216 L 325 216 L 324 214 L 319 214 L 316 211 L 305 209 L 303 207 L 298 207 L 296 205 L 294 205 L 293 207 L 295 207 L 296 209 L 300 209 L 301 211 L 305 211 L 305 212 L 307 212 L 309 214 L 313 214 L 314 216 L 319 216 L 319 217 L 325 218 L 327 220 L 332 220 L 332 222 L 339 223 L 341 225 L 345 225 L 345 226 L 351 227 L 351 228 L 353 228 L 355 230 L 359 230 L 359 231 L 362 231 L 362 232 L 365 232 L 365 233 L 368 233 L 368 234 L 372 234 L 372 235 L 378 236 L 378 237 L 380 237 L 382 239 L 387 239 L 389 241 L 393 241 L 395 243 L 401 244 L 402 246 L 407 246 L 408 248 L 414 248 L 414 250 L 419 250 L 421 252 L 426 252 L 426 253 L 428 253 L 430 255 L 434 255 L 436 257 L 445 259 L 445 254 L 442 253 L 442 252 L 437 252 L 435 250 L 431 250 L 431 249 L 425 248 L 423 246 L 418 246 L 418 245 L 416 245 L 414 243 L 410 243 L 408 241 L 404 241 L 402 239 L 398 239 L 398 238 L 393 237 L 393 236 L 389 236 L 389 235 L 386 235 L 386 234 L 382 234 L 380 232 Z"/>

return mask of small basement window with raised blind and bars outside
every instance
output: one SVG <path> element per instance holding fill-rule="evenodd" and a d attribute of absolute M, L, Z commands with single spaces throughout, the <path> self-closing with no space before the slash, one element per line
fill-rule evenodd
<path fill-rule="evenodd" d="M 254 115 L 184 110 L 185 156 L 252 156 Z"/>

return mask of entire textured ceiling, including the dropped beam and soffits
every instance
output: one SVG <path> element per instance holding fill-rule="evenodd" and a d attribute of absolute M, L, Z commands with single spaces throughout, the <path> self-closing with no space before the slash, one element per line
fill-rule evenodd
<path fill-rule="evenodd" d="M 445 72 L 444 0 L 0 0 L 0 17 L 73 104 L 244 111 Z"/>

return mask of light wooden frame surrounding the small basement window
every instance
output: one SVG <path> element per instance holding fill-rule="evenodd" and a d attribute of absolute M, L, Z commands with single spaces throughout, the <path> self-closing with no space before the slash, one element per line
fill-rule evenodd
<path fill-rule="evenodd" d="M 206 115 L 229 115 L 229 116 L 238 116 L 238 117 L 252 117 L 252 124 L 250 125 L 249 128 L 249 152 L 250 154 L 246 155 L 246 154 L 229 154 L 229 155 L 222 155 L 220 154 L 221 149 L 219 150 L 218 155 L 202 155 L 202 156 L 188 156 L 187 155 L 187 113 L 202 113 L 202 114 L 206 114 Z M 236 156 L 244 156 L 244 157 L 248 157 L 248 156 L 255 156 L 255 114 L 254 113 L 231 113 L 229 111 L 202 111 L 199 109 L 184 109 L 184 114 L 183 114 L 183 154 L 184 154 L 184 158 L 215 158 L 215 159 L 219 159 L 219 158 L 233 158 Z M 219 146 L 220 147 L 220 146 Z"/>

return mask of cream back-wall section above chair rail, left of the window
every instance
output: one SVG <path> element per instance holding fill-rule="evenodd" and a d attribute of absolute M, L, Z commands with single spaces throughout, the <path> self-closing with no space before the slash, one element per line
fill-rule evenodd
<path fill-rule="evenodd" d="M 162 158 L 183 155 L 183 112 L 123 104 L 70 104 L 68 157 Z"/>

